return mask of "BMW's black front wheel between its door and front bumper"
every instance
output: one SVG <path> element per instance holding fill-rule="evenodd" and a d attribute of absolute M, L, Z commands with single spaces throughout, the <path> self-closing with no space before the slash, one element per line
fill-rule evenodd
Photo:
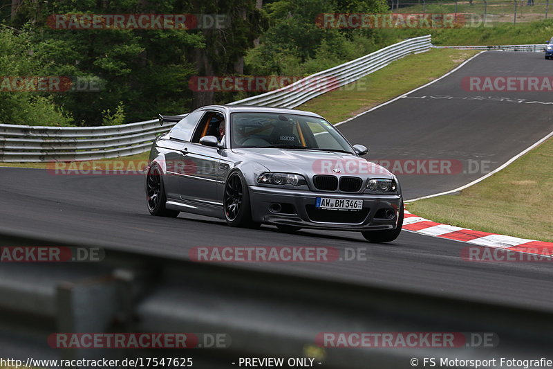
<path fill-rule="evenodd" d="M 227 224 L 232 227 L 258 228 L 259 223 L 252 221 L 250 192 L 247 190 L 244 176 L 235 170 L 225 181 L 223 192 L 223 211 Z"/>

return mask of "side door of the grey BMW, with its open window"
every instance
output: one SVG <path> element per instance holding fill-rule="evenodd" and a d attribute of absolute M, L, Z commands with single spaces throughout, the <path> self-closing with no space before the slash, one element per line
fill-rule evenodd
<path fill-rule="evenodd" d="M 200 119 L 191 142 L 187 145 L 184 154 L 185 173 L 178 176 L 180 199 L 187 204 L 203 206 L 222 206 L 216 193 L 219 177 L 219 162 L 221 150 L 218 147 L 209 147 L 200 144 L 203 136 L 215 136 L 220 122 L 224 123 L 224 114 L 221 111 L 206 110 Z M 194 204 L 193 204 L 194 203 Z"/>

